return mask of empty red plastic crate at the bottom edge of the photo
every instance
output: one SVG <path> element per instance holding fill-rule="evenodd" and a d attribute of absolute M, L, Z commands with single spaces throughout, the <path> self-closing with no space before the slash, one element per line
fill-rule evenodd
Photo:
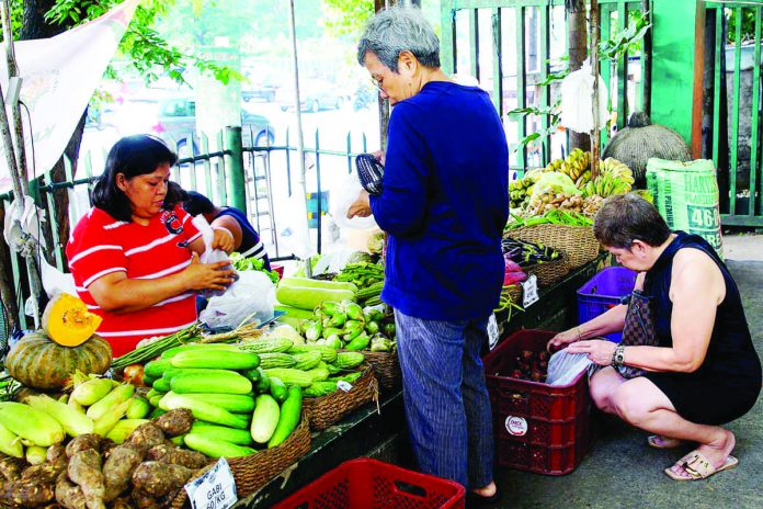
<path fill-rule="evenodd" d="M 463 509 L 464 486 L 368 457 L 342 463 L 274 509 Z"/>

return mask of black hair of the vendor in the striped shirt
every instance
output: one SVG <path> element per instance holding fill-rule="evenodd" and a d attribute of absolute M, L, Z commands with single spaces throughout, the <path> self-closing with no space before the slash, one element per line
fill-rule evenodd
<path fill-rule="evenodd" d="M 156 136 L 138 134 L 119 139 L 109 151 L 103 173 L 95 181 L 93 205 L 117 220 L 130 222 L 133 212 L 129 200 L 116 185 L 116 176 L 122 173 L 125 178 L 133 179 L 152 173 L 159 165 L 174 166 L 175 162 L 178 155 Z M 169 186 L 162 207 L 172 210 L 179 201 L 176 189 Z"/>

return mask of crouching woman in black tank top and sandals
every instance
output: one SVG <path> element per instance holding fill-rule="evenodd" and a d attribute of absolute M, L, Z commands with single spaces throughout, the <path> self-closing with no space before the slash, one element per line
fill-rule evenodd
<path fill-rule="evenodd" d="M 671 233 L 653 205 L 635 194 L 608 199 L 594 234 L 617 261 L 640 272 L 636 287 L 652 302 L 657 346 L 617 346 L 591 339 L 623 330 L 620 305 L 560 332 L 550 346 L 569 344 L 604 366 L 591 378 L 602 410 L 656 433 L 649 445 L 698 446 L 665 474 L 694 480 L 734 467 L 736 438 L 720 425 L 747 414 L 761 391 L 761 362 L 728 269 L 703 238 Z M 626 380 L 614 366 L 646 371 Z"/>

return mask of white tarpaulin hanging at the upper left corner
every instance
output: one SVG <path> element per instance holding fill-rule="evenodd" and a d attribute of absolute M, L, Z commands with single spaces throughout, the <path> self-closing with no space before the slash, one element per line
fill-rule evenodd
<path fill-rule="evenodd" d="M 37 176 L 53 168 L 64 154 L 138 2 L 126 0 L 101 18 L 55 37 L 14 43 L 22 79 L 20 98 L 30 112 L 27 117 L 22 108 L 26 160 L 27 165 L 34 161 Z M 8 65 L 0 58 L 3 93 L 8 92 Z M 0 146 L 0 192 L 11 189 L 3 149 Z M 32 168 L 29 172 L 33 178 Z"/>

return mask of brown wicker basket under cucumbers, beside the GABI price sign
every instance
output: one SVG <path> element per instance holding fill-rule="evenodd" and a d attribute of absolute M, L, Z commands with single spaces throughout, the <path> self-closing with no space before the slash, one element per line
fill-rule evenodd
<path fill-rule="evenodd" d="M 238 498 L 242 499 L 259 490 L 309 451 L 310 429 L 308 427 L 307 415 L 303 412 L 301 421 L 299 426 L 297 426 L 297 429 L 295 429 L 289 438 L 277 448 L 265 449 L 264 451 L 248 456 L 231 457 L 228 460 L 234 479 L 236 479 L 236 493 Z M 214 466 L 215 463 L 216 462 L 213 462 L 204 467 L 198 476 Z M 181 509 L 187 506 L 187 501 L 189 497 L 185 489 L 181 489 L 168 506 L 173 509 Z"/>

